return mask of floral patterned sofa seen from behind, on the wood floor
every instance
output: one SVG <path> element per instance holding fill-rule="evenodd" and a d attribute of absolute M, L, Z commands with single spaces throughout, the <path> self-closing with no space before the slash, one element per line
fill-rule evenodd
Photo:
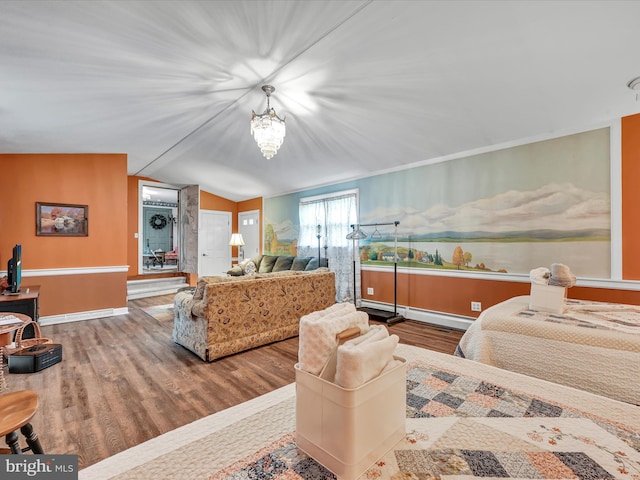
<path fill-rule="evenodd" d="M 300 318 L 335 303 L 327 268 L 240 277 L 201 277 L 174 298 L 173 341 L 200 358 L 226 355 L 298 335 Z"/>

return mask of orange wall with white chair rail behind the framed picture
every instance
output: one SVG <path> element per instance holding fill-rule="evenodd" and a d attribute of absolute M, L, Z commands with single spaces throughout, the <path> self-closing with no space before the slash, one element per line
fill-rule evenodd
<path fill-rule="evenodd" d="M 40 315 L 126 307 L 126 272 L 35 276 L 29 270 L 127 265 L 127 156 L 0 154 L 11 194 L 0 202 L 0 269 L 22 245 L 24 286 L 40 285 Z M 36 236 L 36 202 L 88 205 L 86 237 Z"/>

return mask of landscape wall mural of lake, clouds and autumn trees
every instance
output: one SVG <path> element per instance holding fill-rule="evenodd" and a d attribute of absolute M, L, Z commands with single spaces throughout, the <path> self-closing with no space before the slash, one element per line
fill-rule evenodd
<path fill-rule="evenodd" d="M 295 250 L 301 197 L 358 188 L 361 223 L 400 222 L 398 266 L 517 274 L 564 263 L 579 277 L 610 278 L 609 135 L 603 128 L 265 199 L 265 246 Z M 363 264 L 392 265 L 393 226 L 364 230 Z"/>

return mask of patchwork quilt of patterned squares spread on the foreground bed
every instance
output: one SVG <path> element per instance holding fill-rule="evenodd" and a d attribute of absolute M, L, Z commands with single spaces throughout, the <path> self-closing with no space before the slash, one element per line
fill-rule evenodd
<path fill-rule="evenodd" d="M 361 479 L 640 478 L 638 407 L 624 424 L 563 403 L 551 391 L 526 393 L 517 387 L 523 378 L 494 381 L 451 363 L 450 368 L 428 360 L 412 363 L 407 435 Z M 298 450 L 289 434 L 210 480 L 267 478 L 336 477 Z"/>

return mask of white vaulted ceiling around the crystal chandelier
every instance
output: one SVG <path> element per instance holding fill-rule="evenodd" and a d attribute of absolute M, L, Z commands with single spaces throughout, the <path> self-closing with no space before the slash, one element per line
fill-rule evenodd
<path fill-rule="evenodd" d="M 636 1 L 0 1 L 0 152 L 272 196 L 640 112 Z M 251 111 L 286 116 L 271 160 Z"/>

